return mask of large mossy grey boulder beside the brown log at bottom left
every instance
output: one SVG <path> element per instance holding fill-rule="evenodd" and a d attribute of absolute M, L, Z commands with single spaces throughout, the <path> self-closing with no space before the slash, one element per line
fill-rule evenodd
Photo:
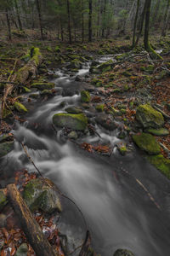
<path fill-rule="evenodd" d="M 27 206 L 32 212 L 41 209 L 43 212 L 62 211 L 61 203 L 58 193 L 52 189 L 54 183 L 47 178 L 47 183 L 44 183 L 42 178 L 32 179 L 26 184 L 23 192 L 23 198 L 26 201 Z M 48 183 L 50 186 L 48 186 Z"/>

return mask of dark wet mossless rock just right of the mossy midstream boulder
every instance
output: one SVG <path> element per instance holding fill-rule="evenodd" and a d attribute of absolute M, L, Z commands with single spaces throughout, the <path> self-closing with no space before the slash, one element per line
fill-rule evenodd
<path fill-rule="evenodd" d="M 113 131 L 116 129 L 117 125 L 114 121 L 114 119 L 110 115 L 104 114 L 99 114 L 96 118 L 95 121 L 97 124 L 101 125 L 105 129 L 109 131 Z"/>

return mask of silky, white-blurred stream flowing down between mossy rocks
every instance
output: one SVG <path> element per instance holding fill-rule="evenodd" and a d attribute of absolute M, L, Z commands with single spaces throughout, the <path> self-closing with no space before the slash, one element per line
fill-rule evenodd
<path fill-rule="evenodd" d="M 87 64 L 77 75 L 87 75 L 88 69 Z M 75 143 L 63 139 L 61 131 L 56 134 L 52 129 L 52 117 L 54 113 L 65 112 L 66 107 L 78 106 L 78 90 L 82 82 L 75 82 L 76 77 L 63 70 L 56 70 L 55 73 L 59 75 L 58 79 L 52 80 L 56 89 L 69 90 L 71 95 L 59 94 L 36 105 L 32 102 L 26 122 L 15 125 L 14 150 L 1 163 L 8 183 L 13 180 L 15 170 L 24 167 L 29 172 L 35 172 L 20 147 L 20 142 L 23 142 L 43 176 L 50 178 L 80 207 L 97 253 L 112 256 L 117 248 L 127 248 L 136 256 L 168 256 L 169 181 L 155 167 L 150 166 L 138 150 L 126 156 L 120 155 L 116 149 L 116 143 L 120 141 L 116 137 L 117 131 L 106 131 L 96 125 L 101 138 L 87 135 L 78 139 L 78 143 L 110 143 L 113 148 L 111 157 L 89 154 Z M 88 116 L 95 114 L 90 113 L 90 110 L 85 110 L 85 113 Z M 1 181 L 1 185 L 5 183 L 6 180 Z M 154 201 L 150 200 L 149 193 Z M 85 237 L 82 216 L 71 202 L 65 204 L 59 228 L 67 236 L 72 237 L 74 234 L 77 241 Z"/>

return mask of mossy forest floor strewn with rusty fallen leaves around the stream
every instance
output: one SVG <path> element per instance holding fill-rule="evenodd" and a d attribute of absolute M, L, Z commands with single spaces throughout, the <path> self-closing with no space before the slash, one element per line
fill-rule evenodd
<path fill-rule="evenodd" d="M 5 84 L 2 81 L 8 81 L 12 73 L 15 73 L 20 67 L 26 64 L 27 57 L 31 47 L 38 47 L 43 56 L 43 63 L 38 69 L 36 82 L 47 81 L 51 79 L 51 73 L 48 70 L 55 70 L 57 67 L 65 66 L 71 63 L 70 72 L 77 73 L 79 67 L 86 61 L 91 61 L 91 73 L 83 80 L 88 84 L 93 84 L 98 93 L 92 95 L 91 102 L 94 108 L 99 112 L 106 114 L 113 114 L 116 120 L 122 122 L 121 137 L 128 134 L 129 137 L 134 133 L 141 133 L 142 127 L 136 122 L 136 110 L 140 104 L 150 102 L 151 106 L 161 111 L 164 116 L 164 128 L 169 132 L 166 136 L 156 136 L 156 141 L 161 143 L 161 154 L 165 159 L 169 159 L 170 152 L 170 38 L 154 38 L 152 43 L 154 47 L 161 50 L 163 61 L 151 60 L 150 56 L 144 52 L 142 46 L 135 50 L 131 50 L 130 41 L 125 38 L 115 38 L 110 40 L 103 40 L 91 44 L 64 44 L 55 42 L 53 38 L 39 41 L 36 39 L 37 35 L 30 35 L 29 32 L 21 34 L 14 32 L 14 39 L 7 43 L 5 39 L 0 41 L 0 92 L 3 99 L 3 90 Z M 97 58 L 104 55 L 114 55 L 116 63 L 106 61 L 103 64 L 96 61 Z M 99 68 L 99 65 L 103 65 Z M 72 75 L 72 74 L 71 74 Z M 77 78 L 77 81 L 82 81 L 82 78 Z M 25 84 L 26 88 L 30 89 L 30 80 Z M 21 101 L 23 92 L 22 86 L 15 90 L 15 93 L 9 97 L 8 102 L 14 104 L 14 101 Z M 53 92 L 53 91 L 52 91 Z M 41 102 L 48 100 L 51 97 L 48 95 L 37 99 Z M 27 99 L 28 105 L 31 98 Z M 27 107 L 27 105 L 26 105 Z M 88 108 L 88 106 L 84 108 Z M 29 110 L 29 107 L 28 107 Z M 1 122 L 0 135 L 3 137 L 4 133 L 8 133 L 13 126 L 14 120 L 20 122 L 25 121 L 25 114 L 13 110 L 13 114 L 4 118 Z M 10 134 L 12 137 L 12 135 Z M 82 148 L 93 152 L 98 151 L 100 154 L 107 152 L 110 148 L 100 145 L 97 149 L 94 145 L 88 143 L 83 144 Z M 122 152 L 123 153 L 123 152 Z M 169 164 L 168 164 L 169 166 Z M 167 172 L 167 171 L 166 171 Z M 166 174 L 166 173 L 164 173 Z M 36 178 L 36 174 L 29 174 L 23 171 L 22 175 L 15 173 L 15 183 L 19 185 L 20 191 L 31 180 Z M 170 177 L 170 170 L 167 172 L 167 177 Z M 25 242 L 26 236 L 20 231 L 20 225 L 15 223 L 13 217 L 5 218 L 8 214 L 8 208 L 0 215 L 0 220 L 5 219 L 6 226 L 2 225 L 0 230 L 0 250 L 1 255 L 14 255 L 20 241 Z M 10 211 L 9 211 L 10 212 Z M 52 217 L 45 220 L 42 212 L 35 215 L 38 223 L 43 229 L 51 228 L 48 241 L 54 244 L 58 239 L 57 227 L 54 228 Z M 1 222 L 3 223 L 3 222 Z M 9 249 L 10 248 L 10 249 Z M 60 244 L 56 250 L 59 255 L 64 255 Z M 29 253 L 27 255 L 34 255 L 29 246 Z M 95 254 L 94 254 L 95 255 Z"/>

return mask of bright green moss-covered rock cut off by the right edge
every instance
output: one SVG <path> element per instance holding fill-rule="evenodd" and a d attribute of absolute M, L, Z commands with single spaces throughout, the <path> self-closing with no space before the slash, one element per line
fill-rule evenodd
<path fill-rule="evenodd" d="M 150 164 L 156 166 L 167 178 L 170 179 L 170 160 L 164 158 L 162 154 L 150 155 L 147 157 Z"/>

